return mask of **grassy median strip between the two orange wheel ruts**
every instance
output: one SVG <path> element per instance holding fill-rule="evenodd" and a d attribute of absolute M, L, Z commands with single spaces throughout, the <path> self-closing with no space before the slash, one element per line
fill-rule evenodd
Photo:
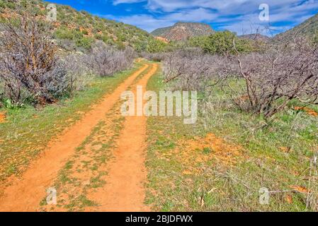
<path fill-rule="evenodd" d="M 118 102 L 106 114 L 105 119 L 95 126 L 91 135 L 76 148 L 52 184 L 57 189 L 57 206 L 47 206 L 45 198 L 40 203 L 42 211 L 83 211 L 98 206 L 98 200 L 91 200 L 93 192 L 106 184 L 108 161 L 113 158 L 116 140 L 123 129 L 125 118 L 120 114 Z"/>

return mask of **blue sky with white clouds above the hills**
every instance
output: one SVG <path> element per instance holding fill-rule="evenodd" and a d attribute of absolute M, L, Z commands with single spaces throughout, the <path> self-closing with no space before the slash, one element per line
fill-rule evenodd
<path fill-rule="evenodd" d="M 50 0 L 93 15 L 136 25 L 147 31 L 178 21 L 208 23 L 215 30 L 266 35 L 283 32 L 318 13 L 318 0 Z M 259 20 L 268 4 L 269 21 Z"/>

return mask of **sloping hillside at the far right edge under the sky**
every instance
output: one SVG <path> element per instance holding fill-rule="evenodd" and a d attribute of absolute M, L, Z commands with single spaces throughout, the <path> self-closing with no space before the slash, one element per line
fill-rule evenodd
<path fill-rule="evenodd" d="M 312 16 L 311 18 L 305 20 L 304 23 L 297 25 L 295 28 L 292 28 L 286 32 L 283 32 L 274 37 L 274 40 L 291 40 L 293 37 L 298 36 L 307 36 L 314 37 L 318 32 L 318 14 Z"/>

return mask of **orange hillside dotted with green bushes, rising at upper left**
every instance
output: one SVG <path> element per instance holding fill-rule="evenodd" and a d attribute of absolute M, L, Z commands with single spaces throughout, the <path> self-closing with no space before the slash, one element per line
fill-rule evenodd
<path fill-rule="evenodd" d="M 0 21 L 14 19 L 25 11 L 45 21 L 47 2 L 0 0 Z M 57 21 L 52 24 L 52 34 L 57 43 L 65 49 L 88 49 L 96 40 L 119 48 L 130 46 L 137 51 L 147 49 L 149 40 L 154 40 L 148 32 L 132 25 L 92 16 L 85 11 L 76 11 L 70 6 L 57 5 Z"/>

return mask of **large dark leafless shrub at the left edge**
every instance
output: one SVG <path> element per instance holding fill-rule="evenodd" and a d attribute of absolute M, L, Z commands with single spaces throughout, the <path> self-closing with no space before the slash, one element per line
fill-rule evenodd
<path fill-rule="evenodd" d="M 57 48 L 45 28 L 24 16 L 18 26 L 8 23 L 0 38 L 4 95 L 14 103 L 23 101 L 23 92 L 38 102 L 52 102 L 47 84 L 62 78 L 65 71 L 57 66 Z"/>

